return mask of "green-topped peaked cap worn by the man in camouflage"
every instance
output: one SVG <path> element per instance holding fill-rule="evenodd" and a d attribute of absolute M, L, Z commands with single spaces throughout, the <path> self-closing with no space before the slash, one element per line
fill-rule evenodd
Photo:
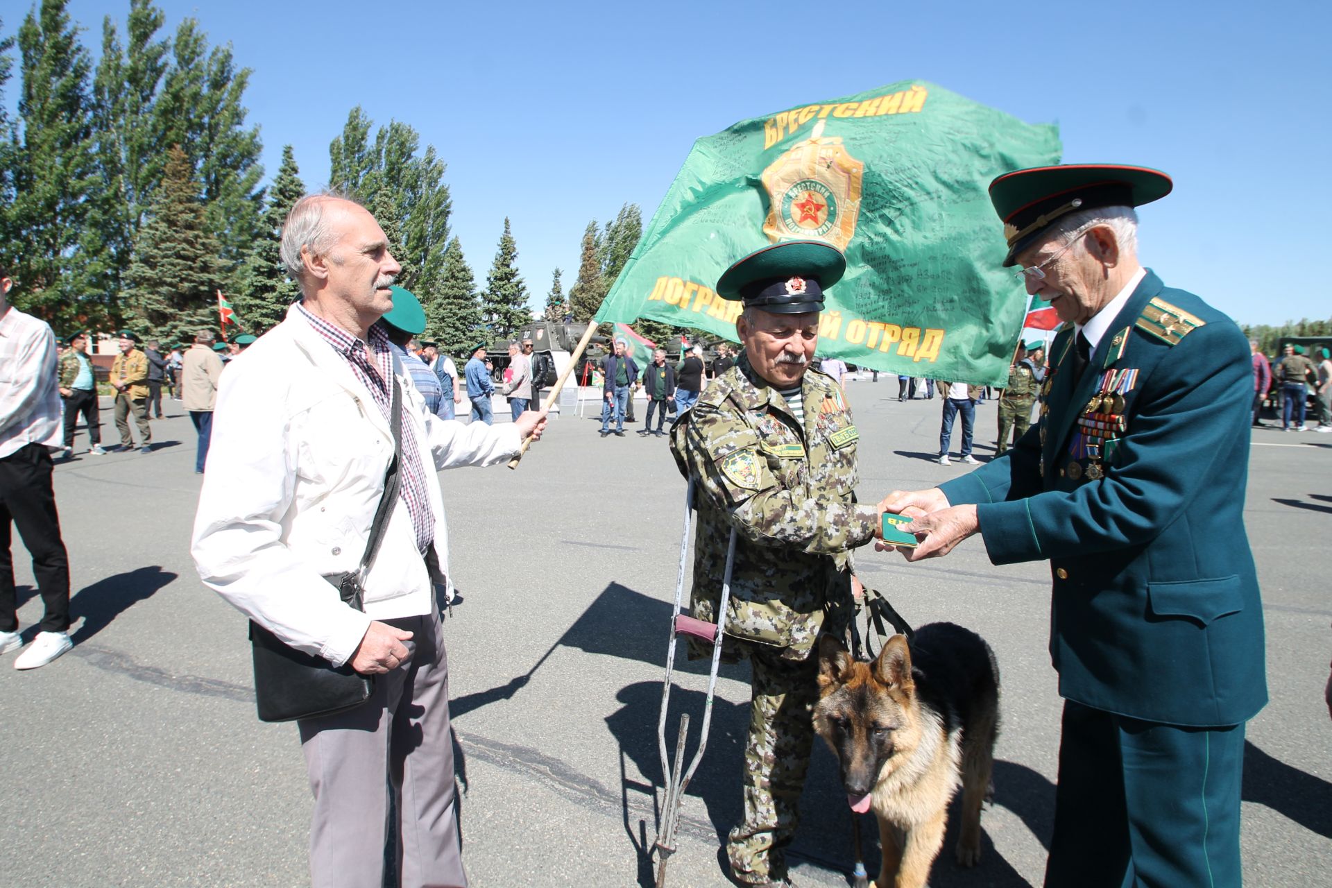
<path fill-rule="evenodd" d="M 773 314 L 823 310 L 823 290 L 842 280 L 846 257 L 825 241 L 782 241 L 754 250 L 717 281 L 717 296 Z"/>

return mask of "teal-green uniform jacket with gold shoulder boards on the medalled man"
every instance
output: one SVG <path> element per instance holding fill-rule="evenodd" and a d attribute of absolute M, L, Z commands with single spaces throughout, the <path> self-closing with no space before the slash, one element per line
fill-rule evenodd
<path fill-rule="evenodd" d="M 1155 322 L 1160 301 L 1199 325 L 1179 322 L 1177 312 Z M 1151 272 L 1076 386 L 1072 337 L 1066 325 L 1051 349 L 1040 423 L 943 493 L 952 505 L 978 503 L 994 563 L 1050 559 L 1050 654 L 1062 696 L 1150 722 L 1244 722 L 1267 703 L 1263 606 L 1243 517 L 1248 342 L 1228 317 Z M 1070 446 L 1107 369 L 1139 373 L 1126 395 L 1127 430 L 1104 477 L 1088 479 L 1088 461 Z"/>

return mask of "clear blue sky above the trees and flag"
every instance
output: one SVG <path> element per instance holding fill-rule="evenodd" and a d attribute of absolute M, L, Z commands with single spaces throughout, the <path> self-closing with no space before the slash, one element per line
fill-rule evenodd
<path fill-rule="evenodd" d="M 507 216 L 534 302 L 573 285 L 589 220 L 655 210 L 694 138 L 922 79 L 1060 128 L 1067 162 L 1155 166 L 1140 258 L 1240 322 L 1332 317 L 1323 241 L 1332 4 L 226 3 L 196 16 L 254 69 L 264 165 L 306 186 L 362 105 L 449 164 L 453 230 L 484 282 Z M 28 3 L 0 0 L 12 33 Z M 100 47 L 128 3 L 72 0 Z M 121 27 L 123 31 L 123 27 Z M 11 84 L 9 101 L 16 84 Z"/>

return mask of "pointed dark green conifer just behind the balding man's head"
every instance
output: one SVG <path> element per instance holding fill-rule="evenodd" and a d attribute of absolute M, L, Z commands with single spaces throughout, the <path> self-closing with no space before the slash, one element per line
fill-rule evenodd
<path fill-rule="evenodd" d="M 301 288 L 282 264 L 282 222 L 292 205 L 305 194 L 301 170 L 290 145 L 282 146 L 282 162 L 268 189 L 262 230 L 245 262 L 245 289 L 236 302 L 236 313 L 250 333 L 270 330 L 286 317 L 286 308 L 300 298 Z"/>

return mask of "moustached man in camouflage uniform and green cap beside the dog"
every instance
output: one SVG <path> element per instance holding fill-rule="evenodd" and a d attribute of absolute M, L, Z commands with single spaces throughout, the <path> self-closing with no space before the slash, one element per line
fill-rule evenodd
<path fill-rule="evenodd" d="M 745 351 L 671 430 L 671 453 L 697 482 L 698 619 L 718 620 L 737 533 L 722 656 L 749 658 L 753 702 L 745 820 L 730 832 L 727 856 L 731 876 L 749 885 L 790 884 L 783 848 L 814 736 L 814 640 L 846 631 L 850 553 L 879 534 L 879 510 L 855 501 L 851 411 L 840 387 L 810 370 L 822 293 L 844 269 L 842 253 L 817 241 L 777 244 L 727 269 L 717 294 L 745 302 L 735 322 Z"/>

